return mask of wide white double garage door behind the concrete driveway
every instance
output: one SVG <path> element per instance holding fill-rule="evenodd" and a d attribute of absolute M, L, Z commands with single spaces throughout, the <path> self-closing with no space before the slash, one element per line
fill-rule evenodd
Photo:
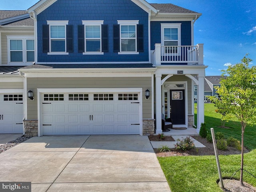
<path fill-rule="evenodd" d="M 138 93 L 42 94 L 42 134 L 140 134 Z"/>

